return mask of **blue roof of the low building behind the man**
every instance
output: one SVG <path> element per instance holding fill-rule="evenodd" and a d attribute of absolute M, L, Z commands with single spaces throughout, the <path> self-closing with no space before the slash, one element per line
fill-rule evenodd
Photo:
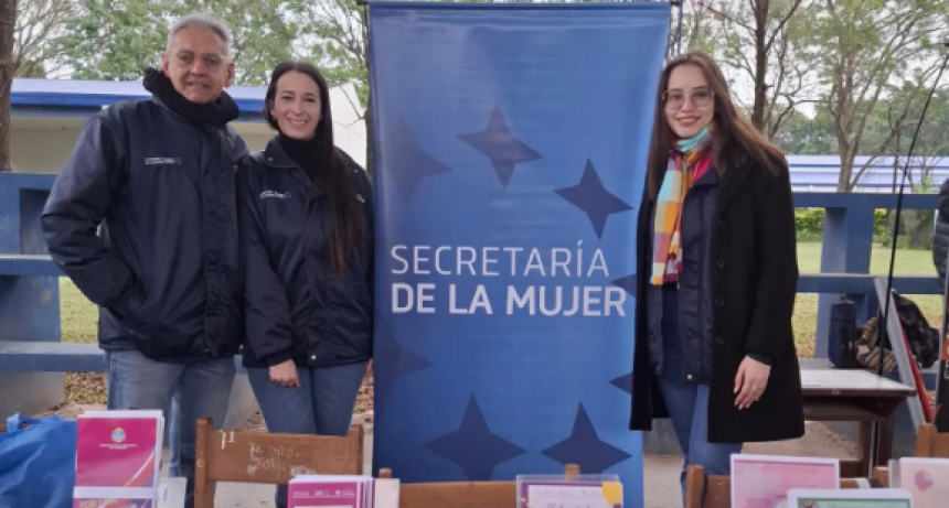
<path fill-rule="evenodd" d="M 234 86 L 226 89 L 243 115 L 260 115 L 265 87 Z M 12 108 L 99 109 L 125 100 L 151 97 L 141 82 L 14 78 Z"/>

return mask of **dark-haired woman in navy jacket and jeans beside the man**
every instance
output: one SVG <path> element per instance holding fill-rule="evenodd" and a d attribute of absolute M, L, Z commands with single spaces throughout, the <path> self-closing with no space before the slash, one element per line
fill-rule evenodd
<path fill-rule="evenodd" d="M 238 177 L 244 366 L 269 432 L 345 435 L 372 365 L 372 185 L 333 145 L 314 66 L 278 65 L 264 116 L 278 134 Z"/>

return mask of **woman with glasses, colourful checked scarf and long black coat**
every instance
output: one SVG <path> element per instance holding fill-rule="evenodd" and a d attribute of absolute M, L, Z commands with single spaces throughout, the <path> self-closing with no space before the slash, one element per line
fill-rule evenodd
<path fill-rule="evenodd" d="M 671 418 L 685 466 L 731 473 L 745 442 L 804 433 L 783 154 L 701 52 L 662 73 L 637 227 L 630 429 Z"/>

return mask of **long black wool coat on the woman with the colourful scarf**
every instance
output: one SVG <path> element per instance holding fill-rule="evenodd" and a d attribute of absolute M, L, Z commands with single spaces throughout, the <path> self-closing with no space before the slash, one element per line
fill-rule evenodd
<path fill-rule="evenodd" d="M 708 441 L 761 442 L 804 434 L 803 397 L 791 315 L 797 237 L 787 163 L 777 174 L 748 160 L 722 175 L 711 239 L 713 271 Z M 669 418 L 649 363 L 646 293 L 655 203 L 643 197 L 637 225 L 636 347 L 630 430 Z M 774 358 L 768 386 L 749 408 L 735 406 L 735 375 L 749 352 Z"/>

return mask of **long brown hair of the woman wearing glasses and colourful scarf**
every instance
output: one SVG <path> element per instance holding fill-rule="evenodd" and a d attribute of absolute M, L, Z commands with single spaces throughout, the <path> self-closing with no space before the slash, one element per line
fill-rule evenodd
<path fill-rule="evenodd" d="M 669 61 L 659 79 L 646 180 L 650 199 L 655 199 L 659 194 L 669 163 L 669 149 L 675 141 L 675 134 L 665 119 L 663 97 L 669 88 L 669 76 L 681 65 L 694 65 L 701 69 L 705 80 L 708 82 L 708 88 L 714 94 L 712 160 L 719 174 L 724 175 L 729 169 L 739 166 L 745 162 L 745 158 L 750 158 L 758 166 L 772 173 L 777 173 L 778 167 L 787 165 L 781 150 L 761 136 L 758 129 L 755 129 L 755 126 L 738 112 L 728 93 L 728 82 L 725 80 L 718 64 L 707 54 L 693 50 Z"/>

